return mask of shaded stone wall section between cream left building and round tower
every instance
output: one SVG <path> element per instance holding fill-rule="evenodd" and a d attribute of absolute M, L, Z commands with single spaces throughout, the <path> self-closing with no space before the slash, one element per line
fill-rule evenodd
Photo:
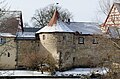
<path fill-rule="evenodd" d="M 37 40 L 22 39 L 17 40 L 17 65 L 24 66 L 25 57 L 29 53 L 39 52 Z"/>

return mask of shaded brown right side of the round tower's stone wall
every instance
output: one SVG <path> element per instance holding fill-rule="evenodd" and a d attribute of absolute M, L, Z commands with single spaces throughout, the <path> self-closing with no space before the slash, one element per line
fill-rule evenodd
<path fill-rule="evenodd" d="M 73 57 L 75 56 L 75 41 L 73 33 L 58 33 L 56 34 L 57 52 L 59 54 L 59 67 L 73 66 Z"/>

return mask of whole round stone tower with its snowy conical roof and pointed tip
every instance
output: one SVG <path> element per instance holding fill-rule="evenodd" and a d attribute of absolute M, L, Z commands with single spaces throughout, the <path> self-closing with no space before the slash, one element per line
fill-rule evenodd
<path fill-rule="evenodd" d="M 72 66 L 73 63 L 69 61 L 74 58 L 74 55 L 70 55 L 74 52 L 72 49 L 74 32 L 59 19 L 57 10 L 48 25 L 36 33 L 40 38 L 40 51 L 51 54 L 59 69 L 65 68 L 67 65 Z"/>

